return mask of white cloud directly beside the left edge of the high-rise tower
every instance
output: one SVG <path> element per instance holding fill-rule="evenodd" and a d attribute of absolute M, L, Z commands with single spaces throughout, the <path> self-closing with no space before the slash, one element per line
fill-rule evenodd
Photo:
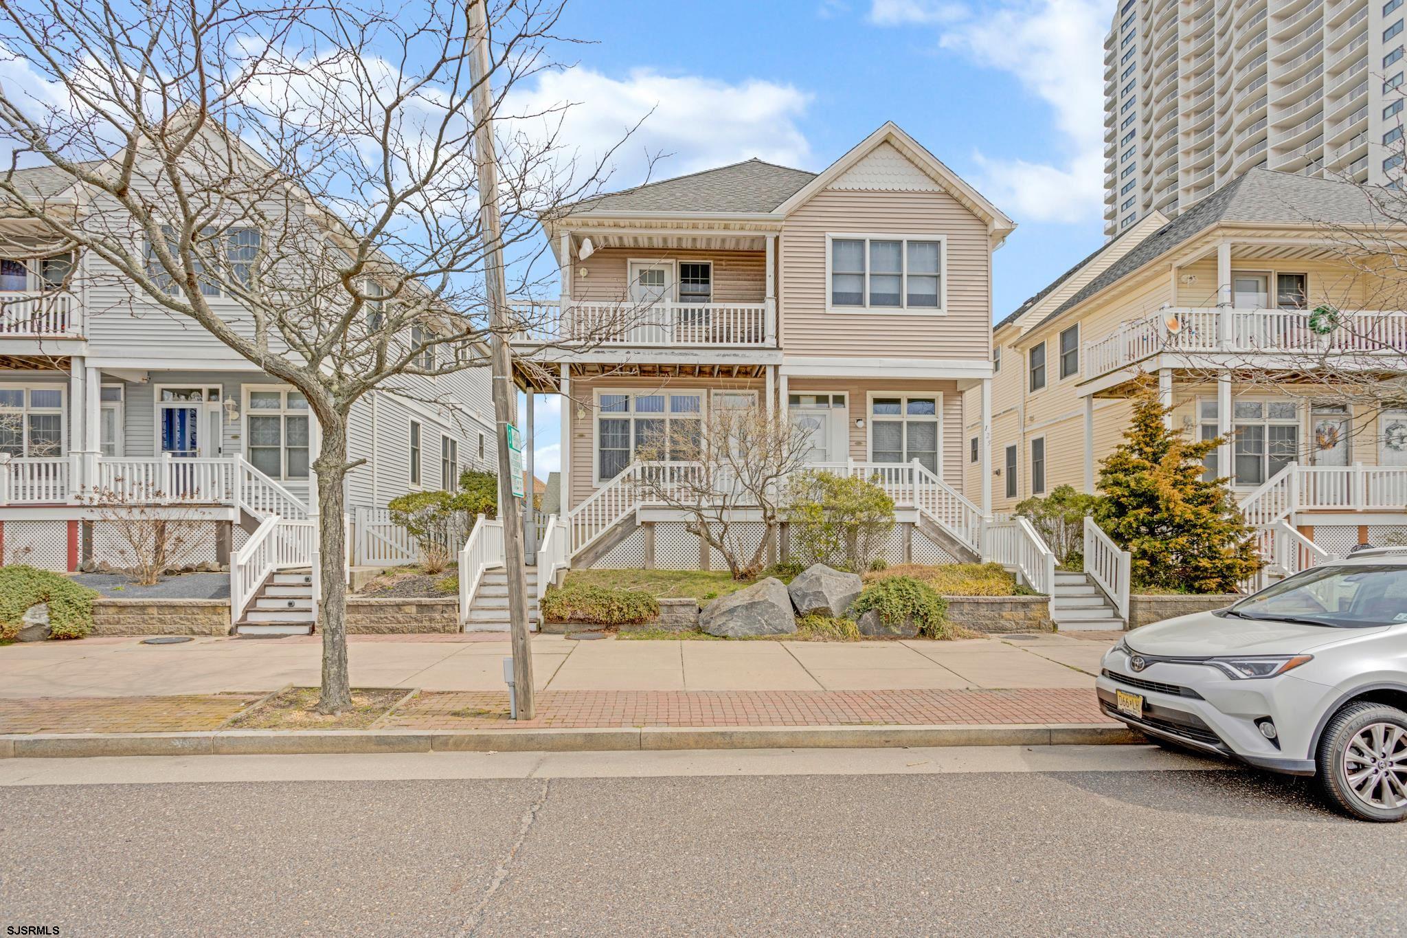
<path fill-rule="evenodd" d="M 881 23 L 881 7 L 899 15 L 913 3 L 874 0 L 871 18 Z M 1002 0 L 943 28 L 943 48 L 1013 75 L 1051 107 L 1057 134 L 1050 162 L 976 153 L 978 187 L 1019 221 L 1076 222 L 1100 214 L 1107 30 L 1103 0 Z"/>

